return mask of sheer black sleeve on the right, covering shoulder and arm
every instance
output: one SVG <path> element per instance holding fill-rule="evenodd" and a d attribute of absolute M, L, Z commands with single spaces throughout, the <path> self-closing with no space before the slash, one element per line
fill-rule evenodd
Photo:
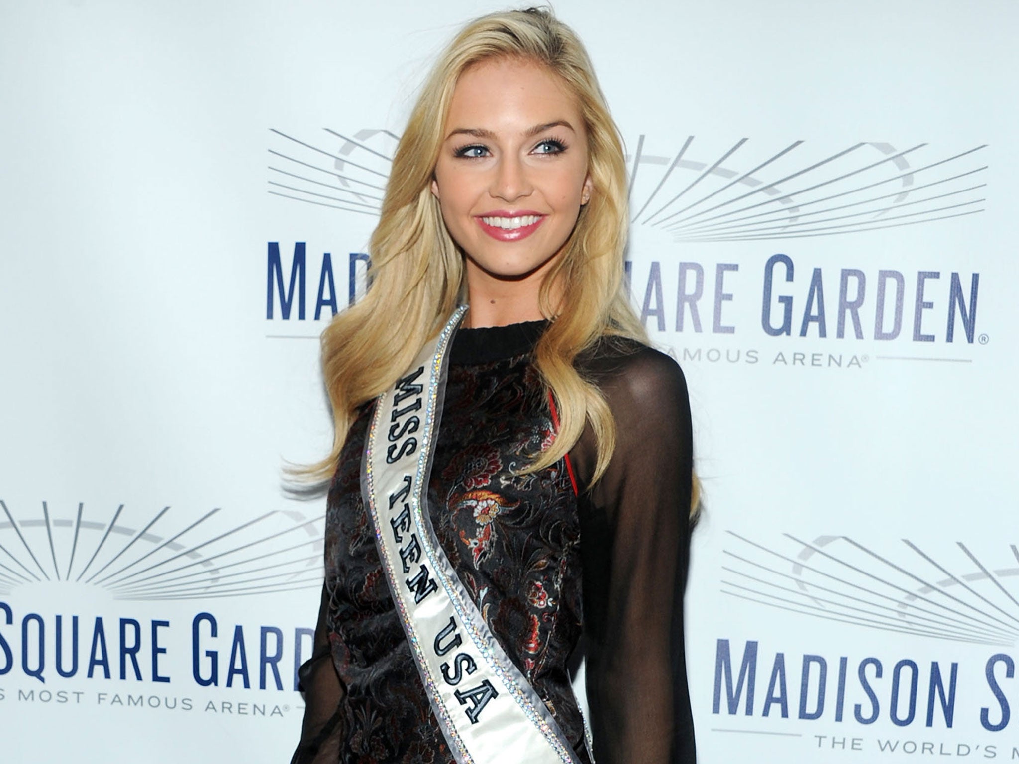
<path fill-rule="evenodd" d="M 581 481 L 587 697 L 598 764 L 693 764 L 683 592 L 693 467 L 679 365 L 636 343 L 583 371 L 615 420 L 608 470 L 590 428 L 571 452 Z"/>

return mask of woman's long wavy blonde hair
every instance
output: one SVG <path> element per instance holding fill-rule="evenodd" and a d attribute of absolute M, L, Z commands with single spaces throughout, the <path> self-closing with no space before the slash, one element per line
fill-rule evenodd
<path fill-rule="evenodd" d="M 389 388 L 464 302 L 463 256 L 430 185 L 458 78 L 474 64 L 505 57 L 546 66 L 575 95 L 587 128 L 592 181 L 590 201 L 581 208 L 562 256 L 541 287 L 541 310 L 555 320 L 535 347 L 535 366 L 555 398 L 559 430 L 551 447 L 528 470 L 560 459 L 586 423 L 597 442 L 592 482 L 608 465 L 615 423 L 598 388 L 584 379 L 574 362 L 605 335 L 647 342 L 624 284 L 626 158 L 580 39 L 549 11 L 530 8 L 468 23 L 425 80 L 396 148 L 379 224 L 369 243 L 371 288 L 322 334 L 322 369 L 335 438 L 332 452 L 308 469 L 310 477 L 327 479 L 332 474 L 357 407 Z M 553 283 L 558 287 L 555 306 Z M 696 494 L 696 480 L 694 486 Z"/>

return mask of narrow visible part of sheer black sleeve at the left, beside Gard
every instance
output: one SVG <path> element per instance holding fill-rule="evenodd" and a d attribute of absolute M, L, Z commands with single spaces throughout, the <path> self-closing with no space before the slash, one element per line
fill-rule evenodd
<path fill-rule="evenodd" d="M 322 587 L 322 604 L 315 626 L 315 649 L 312 657 L 298 669 L 301 691 L 305 696 L 305 718 L 301 725 L 301 742 L 290 764 L 335 764 L 339 761 L 339 701 L 343 686 L 332 663 L 326 614 L 329 595 Z"/>

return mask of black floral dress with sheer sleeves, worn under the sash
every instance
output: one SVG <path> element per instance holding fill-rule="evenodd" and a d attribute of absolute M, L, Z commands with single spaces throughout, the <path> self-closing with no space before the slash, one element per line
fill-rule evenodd
<path fill-rule="evenodd" d="M 590 489 L 594 438 L 521 475 L 554 428 L 531 363 L 543 322 L 462 329 L 429 484 L 429 512 L 486 623 L 582 762 L 694 762 L 683 647 L 689 552 L 690 413 L 667 356 L 604 340 L 582 362 L 618 429 Z M 294 764 L 453 762 L 407 644 L 361 498 L 374 411 L 352 427 L 326 519 L 316 649 L 301 670 L 306 711 Z M 586 658 L 594 751 L 571 688 Z M 593 754 L 593 755 L 592 755 Z M 514 761 L 507 754 L 507 762 Z"/>

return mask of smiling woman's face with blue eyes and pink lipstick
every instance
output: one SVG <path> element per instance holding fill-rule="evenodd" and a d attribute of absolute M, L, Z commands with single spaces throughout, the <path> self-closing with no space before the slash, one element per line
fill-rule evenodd
<path fill-rule="evenodd" d="M 484 61 L 461 74 L 443 134 L 432 193 L 472 303 L 486 289 L 536 294 L 591 194 L 576 97 L 539 64 Z"/>

